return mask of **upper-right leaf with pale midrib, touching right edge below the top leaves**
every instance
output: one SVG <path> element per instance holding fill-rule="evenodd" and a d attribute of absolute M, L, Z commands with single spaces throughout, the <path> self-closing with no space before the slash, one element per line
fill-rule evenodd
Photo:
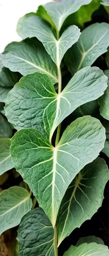
<path fill-rule="evenodd" d="M 92 24 L 81 32 L 76 44 L 65 54 L 65 62 L 72 75 L 79 69 L 91 66 L 101 54 L 107 51 L 108 34 L 109 24 L 107 23 Z"/>

